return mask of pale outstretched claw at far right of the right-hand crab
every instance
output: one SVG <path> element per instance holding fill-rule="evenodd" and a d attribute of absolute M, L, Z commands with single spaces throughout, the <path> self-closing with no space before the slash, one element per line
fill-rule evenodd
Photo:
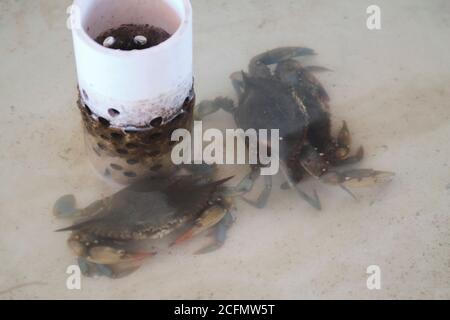
<path fill-rule="evenodd" d="M 325 183 L 342 185 L 346 188 L 371 187 L 376 184 L 387 183 L 395 176 L 393 172 L 376 171 L 372 169 L 356 169 L 344 172 L 329 172 L 321 177 Z"/>

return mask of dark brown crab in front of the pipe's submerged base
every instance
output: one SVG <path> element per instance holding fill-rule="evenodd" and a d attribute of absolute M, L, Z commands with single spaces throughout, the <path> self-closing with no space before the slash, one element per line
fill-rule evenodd
<path fill-rule="evenodd" d="M 149 178 L 81 210 L 75 209 L 73 196 L 64 196 L 56 202 L 54 213 L 76 222 L 58 231 L 72 231 L 69 247 L 88 275 L 128 274 L 154 254 L 140 249 L 148 247 L 145 241 L 185 227 L 188 231 L 178 234 L 173 244 L 216 226 L 216 241 L 199 253 L 217 249 L 232 222 L 233 204 L 223 187 L 229 178 L 212 181 L 204 176 Z"/>

